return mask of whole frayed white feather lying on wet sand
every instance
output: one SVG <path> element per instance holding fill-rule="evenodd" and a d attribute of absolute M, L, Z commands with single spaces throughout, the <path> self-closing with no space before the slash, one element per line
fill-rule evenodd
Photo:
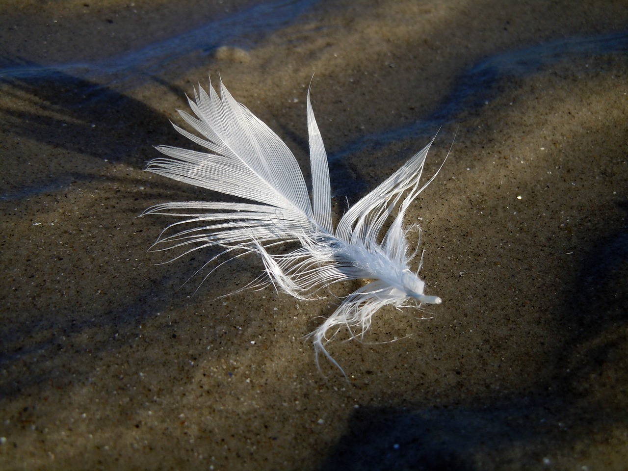
<path fill-rule="evenodd" d="M 384 305 L 403 307 L 413 300 L 441 303 L 437 296 L 425 295 L 425 283 L 409 269 L 414 254 L 408 254 L 406 235 L 416 226 L 404 227 L 403 222 L 414 198 L 436 176 L 420 186 L 431 142 L 349 208 L 334 229 L 327 154 L 309 90 L 311 203 L 303 173 L 290 149 L 237 103 L 222 81 L 220 95 L 210 84 L 209 93 L 199 87 L 188 102 L 195 116 L 185 111 L 179 114 L 200 136 L 173 126 L 207 151 L 159 146 L 165 157 L 150 161 L 146 170 L 249 203 L 188 201 L 148 208 L 142 215 L 183 218 L 163 230 L 154 250 L 182 249 L 183 256 L 203 247 L 220 246 L 224 248 L 222 254 L 232 257 L 256 253 L 263 260 L 266 283 L 299 299 L 317 298 L 322 288 L 339 281 L 369 280 L 346 296 L 310 334 L 317 354 L 323 352 L 335 365 L 325 344 L 340 328 L 347 327 L 352 337 L 357 337 L 364 334 L 374 313 Z M 382 235 L 382 227 L 391 219 Z M 298 248 L 287 253 L 273 251 L 286 242 L 298 244 Z"/>

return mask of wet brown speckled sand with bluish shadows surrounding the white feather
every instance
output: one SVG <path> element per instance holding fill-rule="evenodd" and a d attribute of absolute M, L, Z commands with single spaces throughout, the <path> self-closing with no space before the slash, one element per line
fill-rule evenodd
<path fill-rule="evenodd" d="M 7 1 L 0 31 L 0 468 L 625 469 L 624 1 Z M 143 168 L 219 73 L 304 169 L 315 73 L 338 214 L 455 134 L 409 211 L 443 304 L 330 345 L 348 381 L 304 338 L 333 298 L 147 251 L 144 208 L 215 197 Z"/>

